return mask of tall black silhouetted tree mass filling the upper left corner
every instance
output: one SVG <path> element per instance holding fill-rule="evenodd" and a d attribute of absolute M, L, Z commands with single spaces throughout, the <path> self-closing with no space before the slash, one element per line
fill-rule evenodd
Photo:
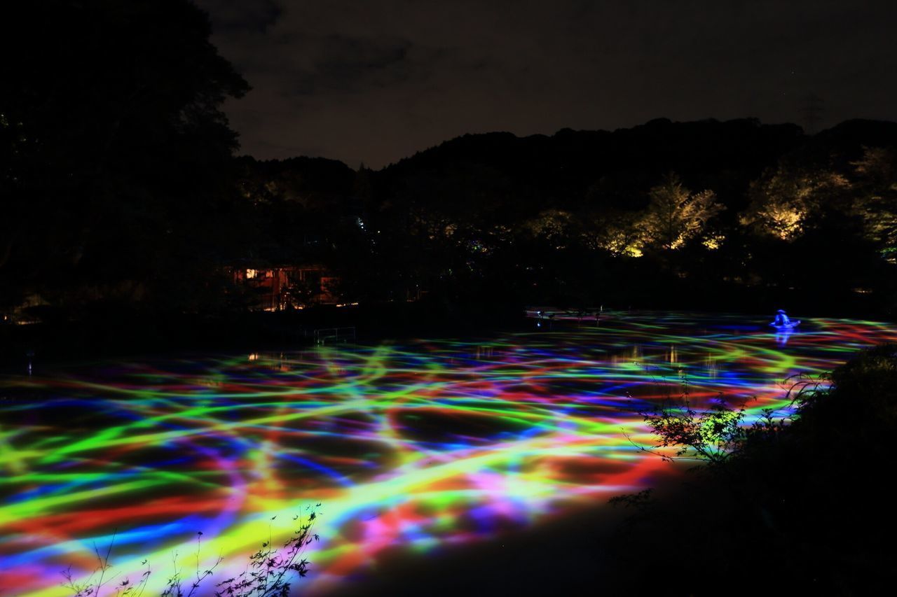
<path fill-rule="evenodd" d="M 213 304 L 239 255 L 220 106 L 248 85 L 187 0 L 13 3 L 0 66 L 0 297 Z M 13 47 L 6 47 L 12 43 Z M 215 289 L 217 290 L 217 289 Z"/>

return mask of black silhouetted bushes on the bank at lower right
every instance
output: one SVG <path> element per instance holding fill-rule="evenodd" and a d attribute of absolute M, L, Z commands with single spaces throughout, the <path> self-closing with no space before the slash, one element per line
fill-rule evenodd
<path fill-rule="evenodd" d="M 710 466 L 695 467 L 684 488 L 665 497 L 614 500 L 634 514 L 618 537 L 611 593 L 645 567 L 664 578 L 670 595 L 714 595 L 719 587 L 727 594 L 890 592 L 897 523 L 882 471 L 897 424 L 897 346 L 867 350 L 829 376 L 792 381 L 793 415 L 763 411 L 746 427 L 733 425 L 743 411 L 721 403 L 705 413 L 648 415 L 658 445 L 673 448 L 668 457 L 696 456 Z M 700 572 L 683 574 L 689 562 L 650 545 L 698 549 Z M 766 566 L 769 558 L 774 565 Z M 758 566 L 760 585 L 733 584 Z"/>

